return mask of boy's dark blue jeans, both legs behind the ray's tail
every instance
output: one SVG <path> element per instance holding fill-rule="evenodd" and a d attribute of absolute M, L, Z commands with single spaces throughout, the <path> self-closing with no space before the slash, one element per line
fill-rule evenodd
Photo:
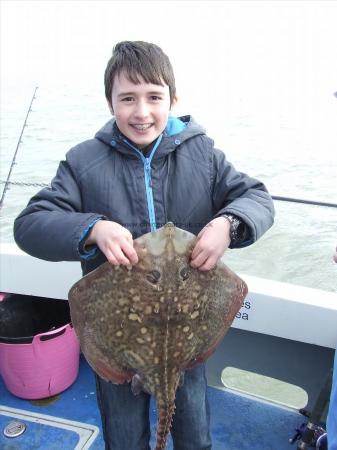
<path fill-rule="evenodd" d="M 106 450 L 150 450 L 150 396 L 134 395 L 130 384 L 112 384 L 96 375 Z M 174 450 L 210 450 L 205 366 L 186 370 L 176 394 L 171 435 Z"/>

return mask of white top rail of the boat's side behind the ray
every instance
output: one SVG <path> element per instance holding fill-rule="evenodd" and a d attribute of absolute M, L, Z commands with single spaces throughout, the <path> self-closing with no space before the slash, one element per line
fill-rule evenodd
<path fill-rule="evenodd" d="M 0 292 L 67 299 L 78 262 L 48 262 L 0 244 Z M 335 348 L 337 293 L 240 274 L 249 293 L 233 327 Z"/>

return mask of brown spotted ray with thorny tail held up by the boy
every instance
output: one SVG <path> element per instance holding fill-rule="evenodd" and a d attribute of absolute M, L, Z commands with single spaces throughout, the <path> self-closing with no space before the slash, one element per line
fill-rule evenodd
<path fill-rule="evenodd" d="M 182 372 L 211 355 L 247 294 L 223 263 L 209 272 L 189 265 L 195 240 L 167 224 L 134 241 L 137 265 L 105 263 L 69 292 L 72 322 L 92 368 L 156 398 L 156 450 L 166 447 Z"/>

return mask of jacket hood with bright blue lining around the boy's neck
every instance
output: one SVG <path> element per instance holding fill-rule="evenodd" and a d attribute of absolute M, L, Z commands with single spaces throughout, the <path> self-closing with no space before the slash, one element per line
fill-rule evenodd
<path fill-rule="evenodd" d="M 192 116 L 170 116 L 163 132 L 163 138 L 160 143 L 161 149 L 158 153 L 160 153 L 160 155 L 169 153 L 170 151 L 173 151 L 177 145 L 180 145 L 187 139 L 205 133 L 205 129 L 195 122 Z M 96 133 L 95 138 L 117 150 L 123 149 L 123 153 L 129 150 L 134 155 L 131 146 L 128 147 L 125 144 L 125 138 L 120 133 L 115 119 L 109 120 L 109 122 Z M 130 142 L 130 144 L 132 143 Z"/>

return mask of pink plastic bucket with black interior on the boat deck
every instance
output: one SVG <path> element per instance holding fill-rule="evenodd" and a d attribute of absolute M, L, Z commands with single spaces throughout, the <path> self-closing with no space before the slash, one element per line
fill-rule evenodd
<path fill-rule="evenodd" d="M 16 297 L 13 302 L 9 298 L 0 303 L 0 309 L 3 310 L 3 323 L 0 317 L 0 374 L 7 389 L 17 397 L 41 399 L 56 395 L 67 389 L 76 380 L 79 368 L 80 349 L 74 329 L 70 323 L 59 326 L 60 320 L 64 321 L 67 318 L 68 304 L 63 300 L 55 301 L 46 298 L 41 301 L 42 299 L 39 298 L 38 305 L 44 305 L 41 308 L 41 319 L 38 317 L 39 309 L 36 308 L 33 297 L 13 297 Z M 18 297 L 22 297 L 22 301 Z M 28 334 L 34 326 L 38 326 L 40 329 L 44 327 L 46 308 L 50 308 L 51 316 L 46 327 L 50 329 L 51 323 L 56 323 L 58 326 L 51 331 L 37 333 L 34 336 L 13 336 L 12 330 L 15 330 L 18 324 L 20 329 L 24 328 L 22 309 L 27 307 L 27 301 L 31 302 L 29 305 L 33 305 L 35 308 L 35 316 L 33 318 L 27 316 L 26 330 L 28 330 Z M 50 304 L 48 304 L 49 302 Z M 62 303 L 56 302 L 64 302 L 64 306 Z M 13 311 L 14 306 L 15 309 L 18 309 L 20 303 L 23 308 L 20 311 Z M 11 308 L 11 304 L 13 304 L 13 308 Z M 61 319 L 55 318 L 53 306 L 58 314 L 60 314 L 60 310 L 62 312 L 63 307 L 67 308 L 64 313 L 62 312 Z M 60 309 L 60 307 L 62 308 Z M 43 312 L 42 309 L 44 309 Z M 29 308 L 26 310 L 28 312 Z M 10 322 L 8 322 L 9 319 Z M 4 331 L 5 333 L 3 333 Z M 11 336 L 3 336 L 6 331 L 7 335 L 11 334 Z"/>

